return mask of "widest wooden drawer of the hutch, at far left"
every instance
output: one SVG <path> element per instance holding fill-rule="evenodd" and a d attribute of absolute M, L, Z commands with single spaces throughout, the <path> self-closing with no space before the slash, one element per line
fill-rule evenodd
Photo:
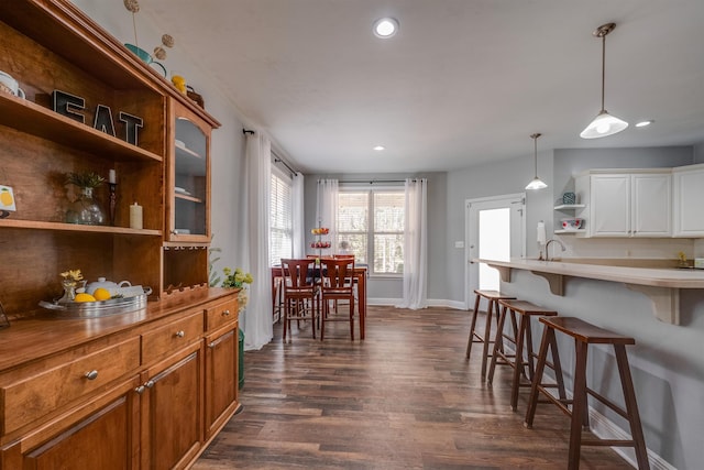
<path fill-rule="evenodd" d="M 139 367 L 140 338 L 134 337 L 2 386 L 2 434 L 19 429 Z"/>

